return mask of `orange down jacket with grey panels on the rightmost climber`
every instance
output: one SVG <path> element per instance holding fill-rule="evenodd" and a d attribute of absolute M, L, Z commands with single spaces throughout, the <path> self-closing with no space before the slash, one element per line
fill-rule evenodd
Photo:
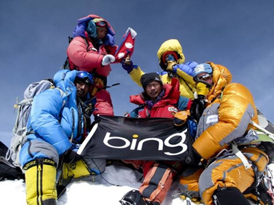
<path fill-rule="evenodd" d="M 213 69 L 214 84 L 207 96 L 210 105 L 203 112 L 198 126 L 199 137 L 193 143 L 203 159 L 210 159 L 227 143 L 254 128 L 249 124 L 250 120 L 258 123 L 253 96 L 247 87 L 238 83 L 229 84 L 231 74 L 225 66 L 212 62 L 208 64 Z"/>

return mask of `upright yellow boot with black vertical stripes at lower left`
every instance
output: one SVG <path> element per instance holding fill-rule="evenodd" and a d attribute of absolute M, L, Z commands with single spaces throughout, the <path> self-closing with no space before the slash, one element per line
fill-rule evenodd
<path fill-rule="evenodd" d="M 27 163 L 23 169 L 26 170 L 27 204 L 55 205 L 57 199 L 56 163 L 49 159 L 36 159 Z"/>

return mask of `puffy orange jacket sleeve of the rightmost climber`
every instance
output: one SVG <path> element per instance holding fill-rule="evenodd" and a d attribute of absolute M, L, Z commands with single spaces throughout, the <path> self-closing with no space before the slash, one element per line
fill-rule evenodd
<path fill-rule="evenodd" d="M 218 115 L 209 115 L 204 123 L 217 118 L 218 122 L 206 128 L 192 145 L 203 159 L 210 159 L 222 146 L 242 137 L 251 128 L 249 122 L 251 118 L 257 119 L 257 113 L 249 90 L 237 83 L 228 85 L 223 91 Z"/>

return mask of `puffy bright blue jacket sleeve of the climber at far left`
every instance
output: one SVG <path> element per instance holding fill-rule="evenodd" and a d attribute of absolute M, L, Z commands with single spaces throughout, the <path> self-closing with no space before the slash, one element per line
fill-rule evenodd
<path fill-rule="evenodd" d="M 60 91 L 49 89 L 34 97 L 30 113 L 30 126 L 34 133 L 50 143 L 60 155 L 71 148 L 71 141 L 58 121 L 62 104 Z"/>

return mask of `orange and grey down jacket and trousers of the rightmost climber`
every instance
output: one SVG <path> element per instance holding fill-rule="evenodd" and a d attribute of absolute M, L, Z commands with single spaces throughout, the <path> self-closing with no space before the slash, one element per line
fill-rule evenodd
<path fill-rule="evenodd" d="M 252 164 L 246 169 L 241 159 L 231 152 L 229 143 L 245 135 L 249 129 L 256 129 L 249 124 L 250 120 L 258 123 L 256 107 L 247 87 L 239 83 L 229 84 L 231 75 L 224 66 L 208 64 L 213 68 L 214 84 L 192 146 L 203 159 L 213 162 L 206 169 L 189 169 L 180 178 L 179 187 L 182 194 L 200 196 L 204 204 L 213 204 L 212 195 L 218 187 L 236 187 L 241 192 L 251 187 L 255 178 L 263 174 L 268 157 L 256 146 L 239 148 Z"/>

